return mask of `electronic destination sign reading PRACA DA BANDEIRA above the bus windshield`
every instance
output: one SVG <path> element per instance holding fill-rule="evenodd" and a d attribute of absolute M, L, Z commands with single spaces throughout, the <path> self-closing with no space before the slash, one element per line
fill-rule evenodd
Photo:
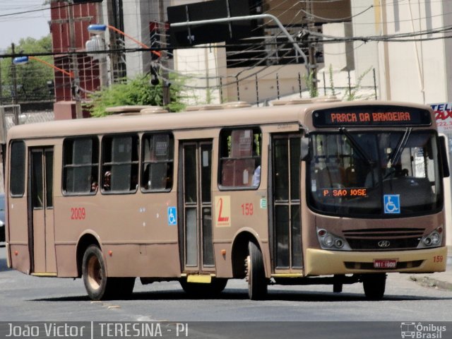
<path fill-rule="evenodd" d="M 349 106 L 317 109 L 312 113 L 316 127 L 337 126 L 430 126 L 427 109 L 395 105 Z"/>

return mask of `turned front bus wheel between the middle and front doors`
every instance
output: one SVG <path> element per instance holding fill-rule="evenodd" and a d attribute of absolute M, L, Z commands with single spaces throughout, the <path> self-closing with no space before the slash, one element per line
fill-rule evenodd
<path fill-rule="evenodd" d="M 248 244 L 248 257 L 246 258 L 246 280 L 248 281 L 248 297 L 251 300 L 265 299 L 268 281 L 263 268 L 261 250 L 254 242 Z"/>

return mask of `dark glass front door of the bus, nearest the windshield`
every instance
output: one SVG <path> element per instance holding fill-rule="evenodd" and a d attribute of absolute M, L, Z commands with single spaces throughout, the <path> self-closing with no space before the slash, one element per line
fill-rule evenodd
<path fill-rule="evenodd" d="M 300 136 L 275 134 L 271 143 L 273 264 L 275 270 L 301 270 Z"/>

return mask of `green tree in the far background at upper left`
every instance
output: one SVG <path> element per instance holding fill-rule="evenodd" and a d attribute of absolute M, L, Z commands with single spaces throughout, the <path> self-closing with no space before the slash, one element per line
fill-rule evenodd
<path fill-rule="evenodd" d="M 6 53 L 12 52 L 11 47 Z M 19 40 L 15 47 L 15 52 L 23 52 L 26 54 L 52 52 L 52 37 L 42 37 L 36 40 L 32 37 L 25 37 Z M 39 57 L 40 59 L 53 64 L 52 56 Z M 13 97 L 13 65 L 11 59 L 1 59 L 1 85 L 3 89 L 3 96 L 8 100 L 8 97 Z M 49 93 L 47 81 L 54 80 L 54 70 L 52 67 L 41 64 L 38 61 L 30 60 L 27 64 L 16 65 L 16 79 L 17 79 L 17 100 L 18 102 L 25 101 L 40 101 L 52 100 L 54 93 Z"/>

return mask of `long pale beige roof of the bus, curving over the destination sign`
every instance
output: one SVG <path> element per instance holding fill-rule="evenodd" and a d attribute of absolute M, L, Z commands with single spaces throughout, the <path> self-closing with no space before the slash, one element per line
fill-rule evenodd
<path fill-rule="evenodd" d="M 8 131 L 8 140 L 17 138 L 55 138 L 61 136 L 126 133 L 136 131 L 177 131 L 184 129 L 206 129 L 215 127 L 222 128 L 225 126 L 283 123 L 303 124 L 309 129 L 312 129 L 312 119 L 308 113 L 312 112 L 314 109 L 369 105 L 410 106 L 420 109 L 429 109 L 432 113 L 430 107 L 403 102 L 307 102 L 301 105 L 197 110 L 179 113 L 131 114 L 130 116 L 124 114 L 103 118 L 58 120 L 38 124 L 25 124 L 13 126 Z"/>

